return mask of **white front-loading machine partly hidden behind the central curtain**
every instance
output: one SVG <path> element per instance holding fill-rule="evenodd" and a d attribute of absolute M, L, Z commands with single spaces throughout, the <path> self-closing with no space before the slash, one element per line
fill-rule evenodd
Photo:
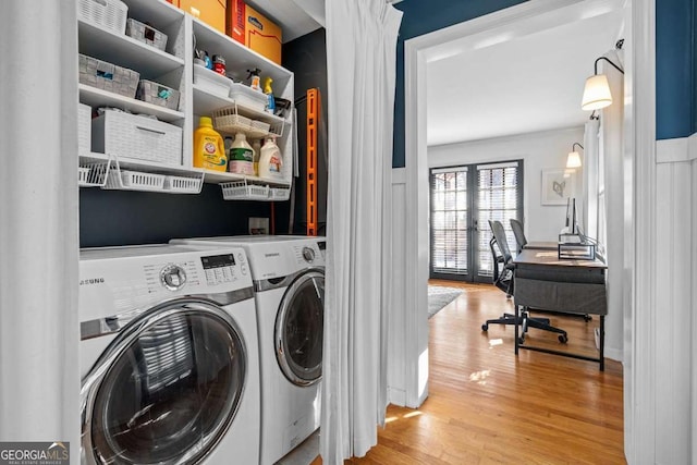
<path fill-rule="evenodd" d="M 273 464 L 319 427 L 326 240 L 256 235 L 172 243 L 247 252 L 259 326 L 259 455 L 262 465 Z"/>

